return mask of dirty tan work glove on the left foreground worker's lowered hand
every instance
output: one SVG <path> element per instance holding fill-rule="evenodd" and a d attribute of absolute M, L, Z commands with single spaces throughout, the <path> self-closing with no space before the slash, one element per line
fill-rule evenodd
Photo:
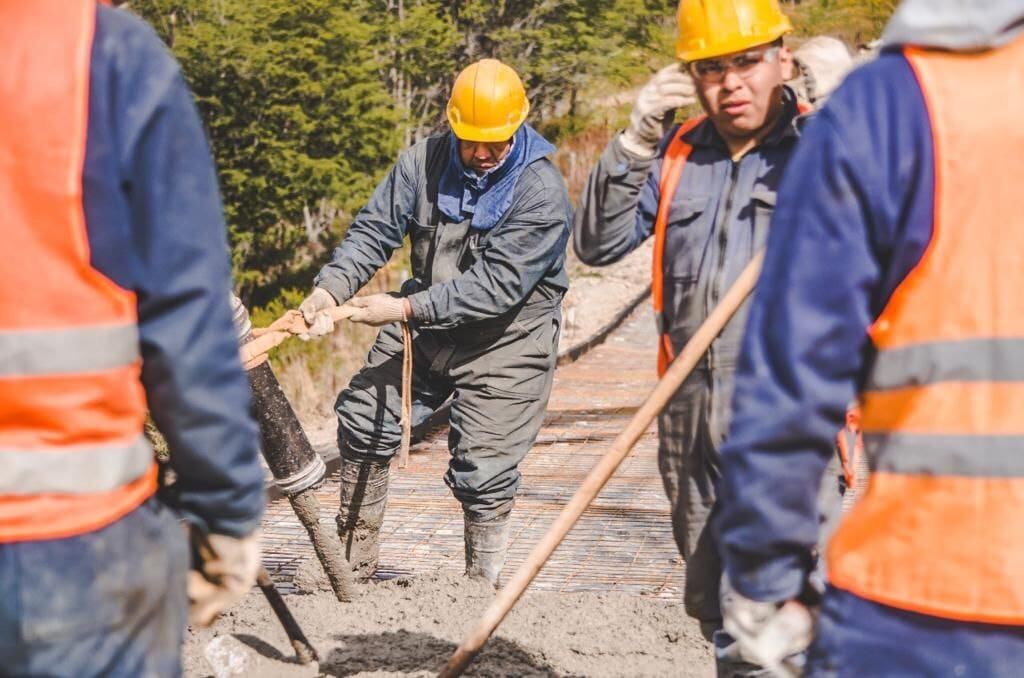
<path fill-rule="evenodd" d="M 241 539 L 190 531 L 193 563 L 188 573 L 188 622 L 210 626 L 242 600 L 256 583 L 260 566 L 259 535 Z"/>

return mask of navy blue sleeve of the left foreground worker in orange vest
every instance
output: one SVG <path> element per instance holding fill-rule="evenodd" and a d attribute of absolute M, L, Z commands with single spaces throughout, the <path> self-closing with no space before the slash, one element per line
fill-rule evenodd
<path fill-rule="evenodd" d="M 128 12 L 98 6 L 89 78 L 92 265 L 138 296 L 142 383 L 177 477 L 165 500 L 212 532 L 247 535 L 263 473 L 203 125 L 174 58 Z"/>

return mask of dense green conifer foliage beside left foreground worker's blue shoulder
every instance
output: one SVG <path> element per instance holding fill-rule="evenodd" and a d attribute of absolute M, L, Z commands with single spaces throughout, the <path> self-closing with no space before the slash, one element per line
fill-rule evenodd
<path fill-rule="evenodd" d="M 207 124 L 244 297 L 308 287 L 318 241 L 337 240 L 398 149 L 372 34 L 332 0 L 133 4 L 172 45 Z"/>

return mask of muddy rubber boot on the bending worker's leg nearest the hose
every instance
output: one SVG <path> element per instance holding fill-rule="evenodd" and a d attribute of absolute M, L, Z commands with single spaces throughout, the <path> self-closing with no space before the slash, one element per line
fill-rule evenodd
<path fill-rule="evenodd" d="M 377 571 L 390 473 L 388 462 L 341 460 L 338 537 L 359 579 L 370 579 Z"/>

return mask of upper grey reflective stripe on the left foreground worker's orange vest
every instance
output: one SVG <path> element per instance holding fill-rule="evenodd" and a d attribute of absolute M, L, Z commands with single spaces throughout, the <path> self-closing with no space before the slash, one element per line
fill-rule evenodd
<path fill-rule="evenodd" d="M 134 324 L 0 332 L 0 377 L 101 372 L 138 357 Z"/>

